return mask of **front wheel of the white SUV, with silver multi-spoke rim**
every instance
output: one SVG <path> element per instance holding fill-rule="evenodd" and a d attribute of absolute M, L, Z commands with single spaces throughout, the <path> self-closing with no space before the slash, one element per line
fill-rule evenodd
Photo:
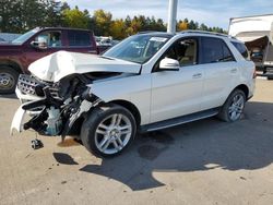
<path fill-rule="evenodd" d="M 118 105 L 95 108 L 82 125 L 81 140 L 96 156 L 111 157 L 133 141 L 136 123 L 132 113 Z"/>

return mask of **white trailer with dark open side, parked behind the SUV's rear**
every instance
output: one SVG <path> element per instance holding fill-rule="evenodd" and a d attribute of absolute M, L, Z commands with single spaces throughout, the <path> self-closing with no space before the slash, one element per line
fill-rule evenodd
<path fill-rule="evenodd" d="M 228 34 L 246 44 L 257 69 L 273 80 L 273 14 L 232 17 Z"/>

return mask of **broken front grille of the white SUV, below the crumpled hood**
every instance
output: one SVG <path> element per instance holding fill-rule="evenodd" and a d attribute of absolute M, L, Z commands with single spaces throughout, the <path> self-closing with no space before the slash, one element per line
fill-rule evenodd
<path fill-rule="evenodd" d="M 35 89 L 36 86 L 39 86 L 40 88 Z M 59 93 L 58 93 L 59 89 L 57 87 L 54 87 L 51 84 L 39 82 L 37 79 L 35 79 L 32 75 L 21 74 L 19 76 L 17 88 L 25 95 L 28 94 L 28 95 L 43 97 L 45 96 L 43 93 L 43 87 L 45 86 L 49 86 L 49 91 L 52 97 L 55 98 L 59 97 Z"/>

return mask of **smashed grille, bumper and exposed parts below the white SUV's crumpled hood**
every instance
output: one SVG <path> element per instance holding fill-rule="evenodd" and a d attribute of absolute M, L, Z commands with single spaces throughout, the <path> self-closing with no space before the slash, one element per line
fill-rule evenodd
<path fill-rule="evenodd" d="M 92 94 L 92 82 L 103 75 L 109 77 L 116 74 L 97 73 L 93 74 L 92 77 L 74 74 L 58 83 L 46 83 L 31 75 L 21 75 L 17 95 L 37 98 L 20 106 L 12 121 L 11 134 L 13 130 L 22 132 L 28 129 L 35 130 L 40 135 L 61 135 L 62 138 L 69 134 L 79 134 L 74 131 L 80 129 L 74 128 L 74 125 L 83 121 L 84 113 L 103 102 Z M 26 113 L 31 119 L 24 123 Z"/>

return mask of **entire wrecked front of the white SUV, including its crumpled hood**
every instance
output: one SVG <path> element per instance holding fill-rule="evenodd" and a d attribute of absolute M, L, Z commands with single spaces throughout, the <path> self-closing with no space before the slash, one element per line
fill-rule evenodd
<path fill-rule="evenodd" d="M 11 133 L 33 129 L 41 135 L 64 137 L 80 134 L 84 113 L 103 102 L 92 91 L 94 84 L 139 74 L 141 64 L 59 51 L 33 62 L 28 70 L 32 75 L 19 77 L 16 95 L 22 106 L 14 114 Z"/>

